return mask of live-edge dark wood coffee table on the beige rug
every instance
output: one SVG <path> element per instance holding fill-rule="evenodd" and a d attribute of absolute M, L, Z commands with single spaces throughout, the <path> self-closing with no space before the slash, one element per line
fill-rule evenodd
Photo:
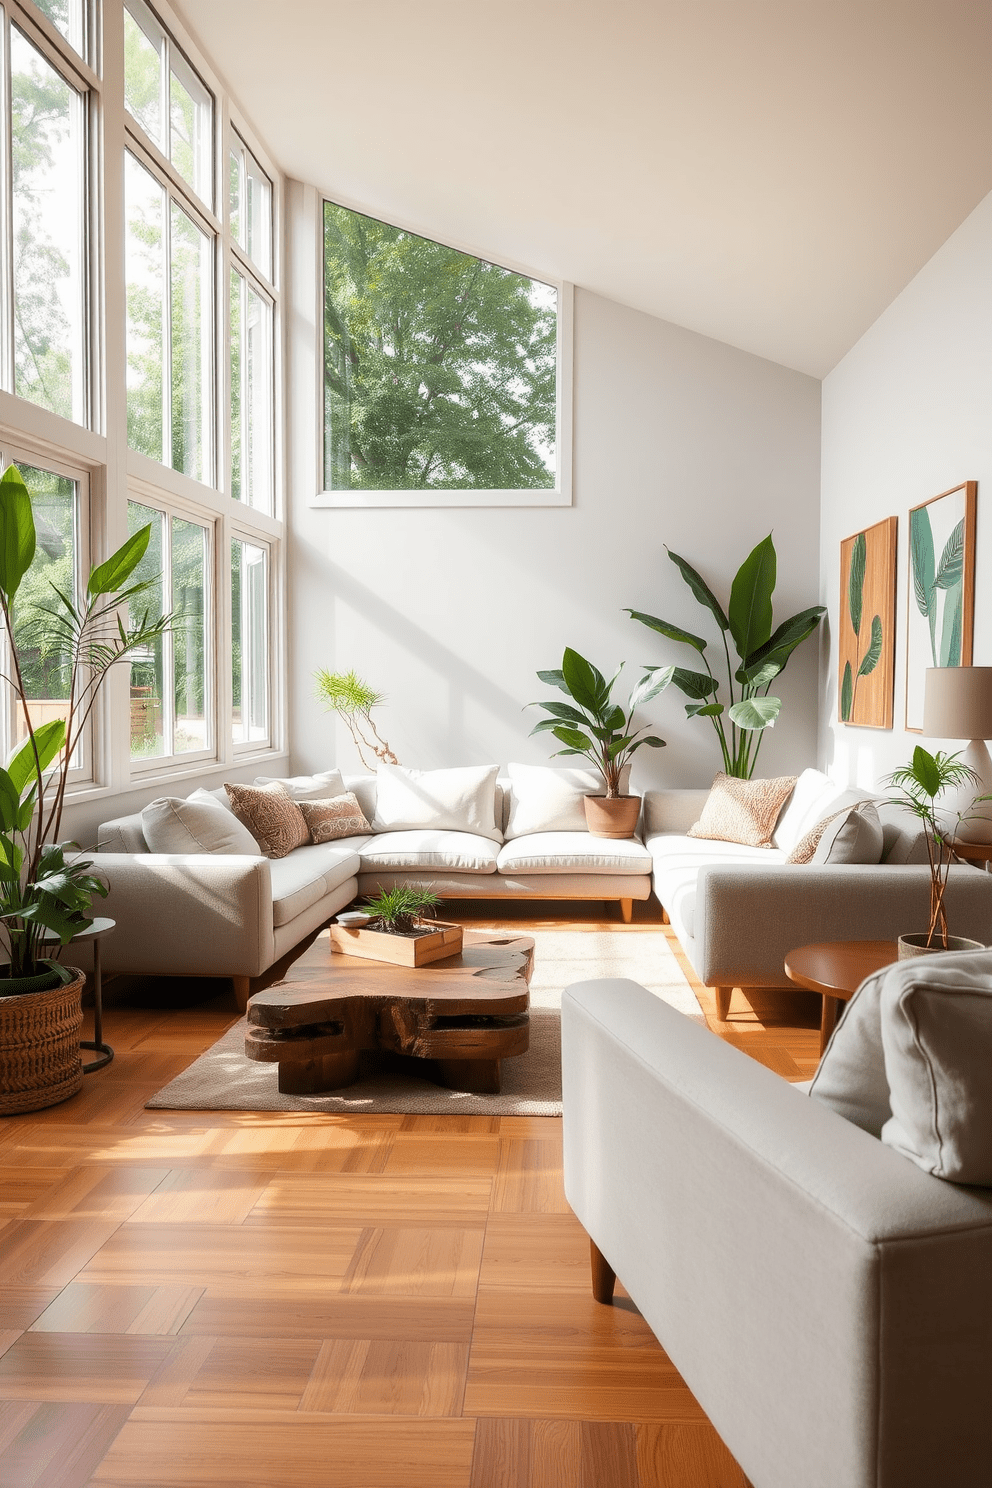
<path fill-rule="evenodd" d="M 433 1061 L 455 1091 L 495 1095 L 500 1059 L 529 1043 L 534 942 L 466 930 L 460 955 L 391 966 L 332 952 L 324 930 L 286 981 L 248 1000 L 244 1052 L 280 1067 L 284 1095 L 352 1085 L 363 1049 Z"/>

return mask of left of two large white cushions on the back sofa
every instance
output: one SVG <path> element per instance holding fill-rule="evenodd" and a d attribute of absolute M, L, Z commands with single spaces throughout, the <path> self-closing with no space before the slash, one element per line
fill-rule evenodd
<path fill-rule="evenodd" d="M 498 765 L 457 769 L 403 769 L 379 765 L 376 771 L 375 832 L 473 832 L 500 842 L 495 818 Z"/>

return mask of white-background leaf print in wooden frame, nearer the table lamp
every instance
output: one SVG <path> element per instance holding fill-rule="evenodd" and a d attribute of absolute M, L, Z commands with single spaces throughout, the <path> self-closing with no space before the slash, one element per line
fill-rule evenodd
<path fill-rule="evenodd" d="M 974 638 L 977 481 L 934 496 L 909 513 L 906 728 L 924 729 L 928 667 L 970 667 Z"/>

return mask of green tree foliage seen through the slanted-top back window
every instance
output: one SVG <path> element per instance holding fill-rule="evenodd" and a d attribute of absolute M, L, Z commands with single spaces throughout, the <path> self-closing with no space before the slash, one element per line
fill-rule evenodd
<path fill-rule="evenodd" d="M 556 315 L 543 289 L 326 202 L 326 485 L 553 487 Z"/>

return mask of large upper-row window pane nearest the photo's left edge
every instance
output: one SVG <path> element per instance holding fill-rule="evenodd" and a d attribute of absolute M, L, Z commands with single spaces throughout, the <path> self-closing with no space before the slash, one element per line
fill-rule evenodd
<path fill-rule="evenodd" d="M 85 159 L 86 94 L 42 45 L 0 12 L 9 82 L 3 121 L 4 257 L 12 299 L 3 333 L 18 397 L 88 423 Z M 7 301 L 7 296 L 3 296 Z"/>

